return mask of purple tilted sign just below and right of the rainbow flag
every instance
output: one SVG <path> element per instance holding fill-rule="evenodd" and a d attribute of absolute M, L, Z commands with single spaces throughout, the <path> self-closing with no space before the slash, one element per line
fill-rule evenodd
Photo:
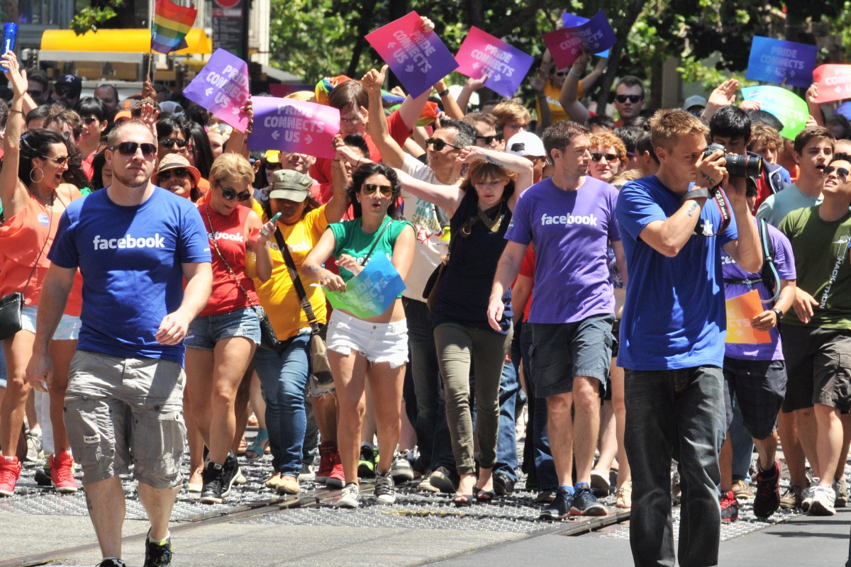
<path fill-rule="evenodd" d="M 248 101 L 248 64 L 225 49 L 215 50 L 183 95 L 240 132 L 248 127 L 242 112 Z"/>

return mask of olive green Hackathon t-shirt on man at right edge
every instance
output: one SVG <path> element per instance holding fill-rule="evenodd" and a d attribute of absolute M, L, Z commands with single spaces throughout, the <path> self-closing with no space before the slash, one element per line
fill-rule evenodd
<path fill-rule="evenodd" d="M 851 213 L 832 223 L 819 216 L 820 205 L 792 211 L 780 223 L 795 253 L 797 286 L 819 302 L 807 326 L 851 329 Z M 783 323 L 802 326 L 789 309 Z"/>

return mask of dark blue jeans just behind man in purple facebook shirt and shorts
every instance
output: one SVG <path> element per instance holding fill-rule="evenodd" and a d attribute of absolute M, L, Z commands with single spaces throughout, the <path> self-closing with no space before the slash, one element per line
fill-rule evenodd
<path fill-rule="evenodd" d="M 523 325 L 520 333 L 520 351 L 523 355 L 523 378 L 526 380 L 527 403 L 529 405 L 526 439 L 534 447 L 534 472 L 538 490 L 556 490 L 558 475 L 552 460 L 550 440 L 546 436 L 546 400 L 535 399 L 534 376 L 532 376 L 529 354 L 532 349 L 532 326 Z"/>

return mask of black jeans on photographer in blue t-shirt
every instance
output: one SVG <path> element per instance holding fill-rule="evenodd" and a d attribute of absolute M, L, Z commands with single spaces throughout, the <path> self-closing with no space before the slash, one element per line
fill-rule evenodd
<path fill-rule="evenodd" d="M 637 567 L 675 563 L 671 457 L 679 463 L 679 564 L 717 565 L 721 536 L 718 453 L 724 377 L 717 366 L 626 370 L 626 455 L 632 470 L 630 546 Z"/>

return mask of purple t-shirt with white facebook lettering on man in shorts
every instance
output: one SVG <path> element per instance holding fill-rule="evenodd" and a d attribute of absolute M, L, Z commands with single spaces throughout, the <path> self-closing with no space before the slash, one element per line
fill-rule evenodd
<path fill-rule="evenodd" d="M 573 323 L 614 314 L 608 241 L 620 241 L 614 218 L 618 190 L 591 176 L 575 191 L 552 179 L 529 187 L 517 201 L 505 239 L 534 241 L 536 261 L 531 323 Z"/>

